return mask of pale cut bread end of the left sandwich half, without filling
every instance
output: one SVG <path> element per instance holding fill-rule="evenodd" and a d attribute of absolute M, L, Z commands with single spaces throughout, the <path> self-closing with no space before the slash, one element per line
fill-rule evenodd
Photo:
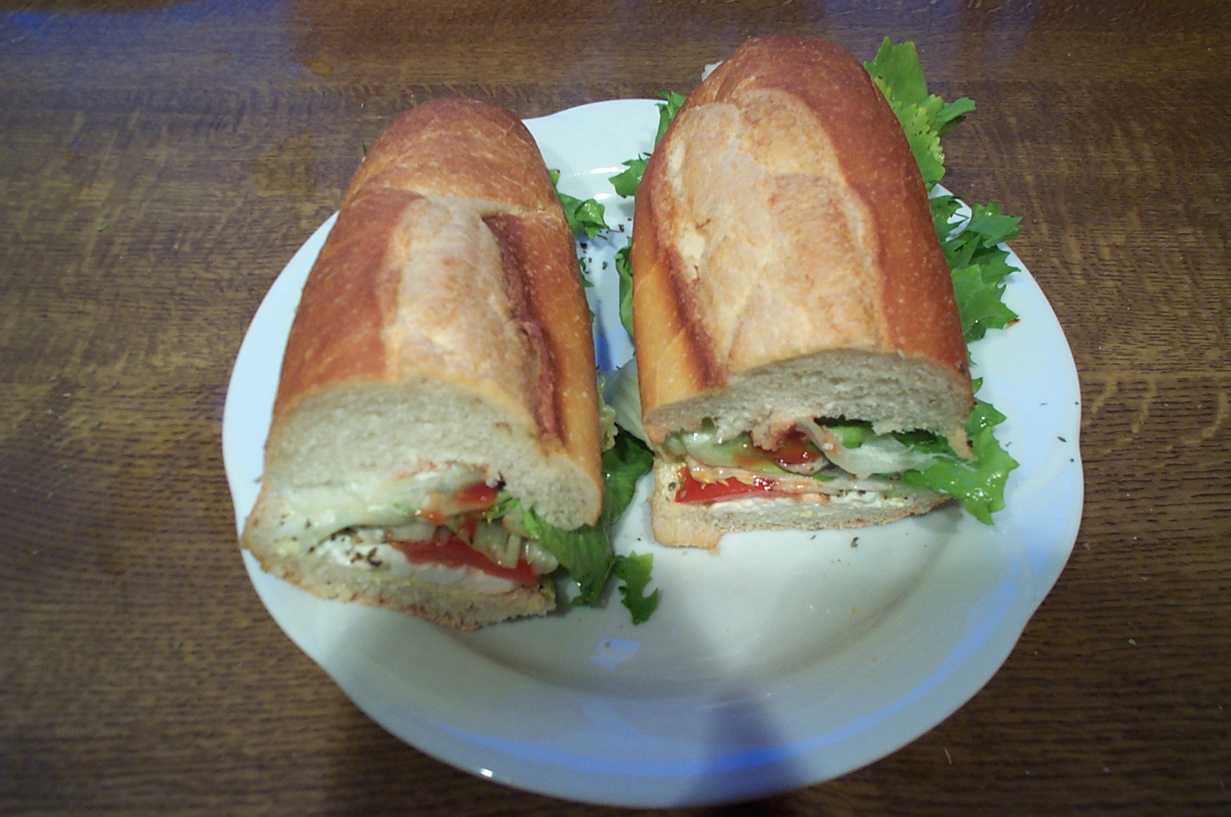
<path fill-rule="evenodd" d="M 531 423 L 519 424 L 490 395 L 437 379 L 309 394 L 271 433 L 265 484 L 243 544 L 262 570 L 321 598 L 464 630 L 545 615 L 555 608 L 545 578 L 537 587 L 502 580 L 492 587 L 476 571 L 396 571 L 388 556 L 364 564 L 330 557 L 321 546 L 355 525 L 400 524 L 406 508 L 431 506 L 433 497 L 476 481 L 503 485 L 558 527 L 585 524 L 602 503 L 593 480 L 563 450 L 527 433 Z"/>

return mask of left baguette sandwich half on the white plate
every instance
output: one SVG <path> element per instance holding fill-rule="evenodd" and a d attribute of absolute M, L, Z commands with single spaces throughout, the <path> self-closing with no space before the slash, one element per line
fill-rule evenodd
<path fill-rule="evenodd" d="M 602 495 L 591 319 L 538 146 L 495 105 L 422 105 L 308 277 L 243 545 L 316 596 L 473 629 L 554 607 L 567 559 L 538 536 Z"/>

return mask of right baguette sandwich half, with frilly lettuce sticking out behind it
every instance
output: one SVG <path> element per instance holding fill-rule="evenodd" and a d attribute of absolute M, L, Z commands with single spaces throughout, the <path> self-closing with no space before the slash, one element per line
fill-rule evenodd
<path fill-rule="evenodd" d="M 769 36 L 721 63 L 646 164 L 630 260 L 662 544 L 949 500 L 901 475 L 970 456 L 953 283 L 902 127 L 851 54 Z"/>

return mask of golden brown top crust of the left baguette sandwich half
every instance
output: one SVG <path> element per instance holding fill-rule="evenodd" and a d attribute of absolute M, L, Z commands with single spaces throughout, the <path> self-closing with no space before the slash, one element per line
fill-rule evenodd
<path fill-rule="evenodd" d="M 416 269 L 431 253 L 444 263 Z M 425 103 L 380 135 L 342 201 L 291 330 L 271 438 L 332 386 L 435 378 L 500 406 L 599 485 L 590 331 L 529 132 L 491 103 Z"/>

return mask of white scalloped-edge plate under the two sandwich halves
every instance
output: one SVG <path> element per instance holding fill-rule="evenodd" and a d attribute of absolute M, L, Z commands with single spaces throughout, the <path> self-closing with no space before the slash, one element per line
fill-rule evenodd
<path fill-rule="evenodd" d="M 652 101 L 527 124 L 561 187 L 632 205 L 606 177 L 648 150 Z M 235 520 L 255 502 L 282 351 L 326 221 L 270 289 L 244 340 L 223 418 Z M 599 357 L 629 356 L 609 247 L 591 247 Z M 1030 274 L 1022 317 L 972 348 L 980 396 L 1020 461 L 986 527 L 956 507 L 878 528 L 748 533 L 721 555 L 652 541 L 643 480 L 616 549 L 654 554 L 659 612 L 606 609 L 463 634 L 316 599 L 245 562 L 275 620 L 387 730 L 484 778 L 627 806 L 751 799 L 826 780 L 908 743 L 996 672 L 1069 559 L 1082 507 L 1080 393 L 1064 332 Z M 856 541 L 858 538 L 858 541 Z"/>

